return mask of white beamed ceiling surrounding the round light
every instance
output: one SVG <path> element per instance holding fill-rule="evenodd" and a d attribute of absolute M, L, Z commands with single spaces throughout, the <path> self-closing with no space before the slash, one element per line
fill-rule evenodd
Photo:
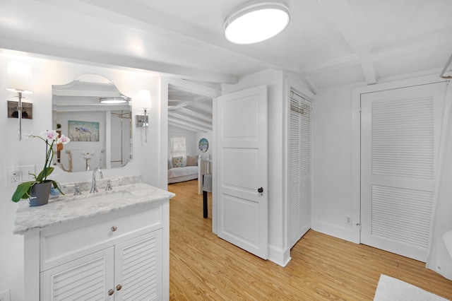
<path fill-rule="evenodd" d="M 451 0 L 285 0 L 283 33 L 232 45 L 222 23 L 245 1 L 1 0 L 0 47 L 210 83 L 280 69 L 313 93 L 439 74 L 452 52 Z"/>

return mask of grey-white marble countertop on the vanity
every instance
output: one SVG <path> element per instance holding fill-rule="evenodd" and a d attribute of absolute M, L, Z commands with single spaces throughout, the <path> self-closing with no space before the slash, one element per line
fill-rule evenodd
<path fill-rule="evenodd" d="M 30 207 L 28 201 L 19 201 L 13 233 L 24 234 L 49 225 L 80 220 L 175 196 L 172 192 L 143 182 L 116 186 L 111 191 L 99 189 L 95 194 L 90 194 L 89 191 L 81 192 L 79 196 L 66 194 L 49 199 L 49 203 L 44 206 Z"/>

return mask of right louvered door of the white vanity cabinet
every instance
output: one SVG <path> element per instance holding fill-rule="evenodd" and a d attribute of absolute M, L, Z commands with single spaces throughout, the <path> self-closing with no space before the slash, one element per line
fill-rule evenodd
<path fill-rule="evenodd" d="M 162 230 L 115 247 L 115 301 L 162 299 Z"/>

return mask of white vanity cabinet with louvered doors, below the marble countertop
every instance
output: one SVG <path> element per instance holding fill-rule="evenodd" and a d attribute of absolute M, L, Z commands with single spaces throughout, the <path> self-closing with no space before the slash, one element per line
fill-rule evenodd
<path fill-rule="evenodd" d="M 169 199 L 25 235 L 25 300 L 168 300 Z"/>

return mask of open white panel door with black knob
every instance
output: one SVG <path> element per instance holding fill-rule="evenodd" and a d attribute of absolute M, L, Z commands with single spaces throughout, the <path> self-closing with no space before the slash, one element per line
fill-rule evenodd
<path fill-rule="evenodd" d="M 268 258 L 267 87 L 218 98 L 218 236 Z"/>

